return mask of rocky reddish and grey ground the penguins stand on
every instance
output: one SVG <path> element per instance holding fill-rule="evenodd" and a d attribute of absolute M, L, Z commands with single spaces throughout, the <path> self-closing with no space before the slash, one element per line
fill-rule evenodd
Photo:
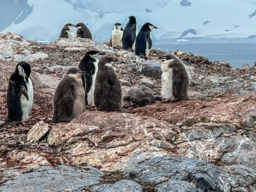
<path fill-rule="evenodd" d="M 145 60 L 89 39 L 43 45 L 0 34 L 0 123 L 19 61 L 31 64 L 34 86 L 26 125 L 0 128 L 0 191 L 256 191 L 256 67 L 176 51 L 189 100 L 125 105 L 122 113 L 87 108 L 53 123 L 54 90 L 90 49 L 119 59 L 113 67 L 124 92 L 145 85 L 160 95 L 162 51 Z"/>

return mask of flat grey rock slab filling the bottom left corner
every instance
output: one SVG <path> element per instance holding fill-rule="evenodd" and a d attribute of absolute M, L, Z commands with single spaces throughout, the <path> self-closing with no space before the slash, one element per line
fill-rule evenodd
<path fill-rule="evenodd" d="M 59 165 L 57 168 L 40 166 L 15 177 L 13 181 L 3 183 L 0 191 L 81 191 L 95 184 L 102 183 L 104 174 L 92 167 L 71 168 Z"/>

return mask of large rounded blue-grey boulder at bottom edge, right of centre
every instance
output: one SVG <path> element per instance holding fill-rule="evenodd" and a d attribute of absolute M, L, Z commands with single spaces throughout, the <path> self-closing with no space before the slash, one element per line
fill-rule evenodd
<path fill-rule="evenodd" d="M 156 189 L 165 188 L 166 191 L 172 191 L 174 186 L 158 185 L 172 181 L 187 181 L 191 182 L 198 191 L 222 192 L 230 191 L 234 182 L 227 173 L 213 164 L 180 156 L 155 157 L 130 168 L 124 168 L 122 171 L 126 179 L 156 186 Z M 168 186 L 169 189 L 166 189 Z"/>

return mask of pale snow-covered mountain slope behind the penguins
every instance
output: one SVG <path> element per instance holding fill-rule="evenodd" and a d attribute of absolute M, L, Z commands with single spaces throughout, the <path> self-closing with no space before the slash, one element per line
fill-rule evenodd
<path fill-rule="evenodd" d="M 155 39 L 256 37 L 256 0 L 0 0 L 0 33 L 52 41 L 65 23 L 84 22 L 94 40 L 108 41 L 114 23 L 124 28 L 130 15 L 138 30 L 157 26 Z"/>

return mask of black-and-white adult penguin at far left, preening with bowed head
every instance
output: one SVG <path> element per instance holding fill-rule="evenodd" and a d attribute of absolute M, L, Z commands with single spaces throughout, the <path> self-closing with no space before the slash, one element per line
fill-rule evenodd
<path fill-rule="evenodd" d="M 28 120 L 34 100 L 30 74 L 31 66 L 27 62 L 21 61 L 16 65 L 7 89 L 8 117 L 1 126 L 9 122 L 22 123 Z"/>

